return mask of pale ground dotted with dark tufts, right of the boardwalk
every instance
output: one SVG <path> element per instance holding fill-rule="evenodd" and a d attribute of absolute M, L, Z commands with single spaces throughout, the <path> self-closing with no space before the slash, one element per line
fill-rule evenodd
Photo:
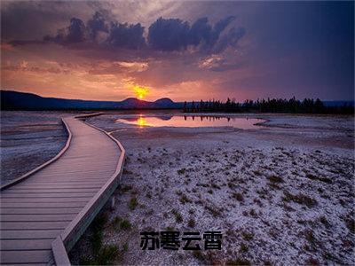
<path fill-rule="evenodd" d="M 267 120 L 264 129 L 89 120 L 128 153 L 114 209 L 101 212 L 102 243 L 118 247 L 113 263 L 355 263 L 353 119 L 248 115 Z M 222 251 L 143 251 L 145 230 L 222 231 Z M 73 263 L 92 262 L 93 231 Z"/>

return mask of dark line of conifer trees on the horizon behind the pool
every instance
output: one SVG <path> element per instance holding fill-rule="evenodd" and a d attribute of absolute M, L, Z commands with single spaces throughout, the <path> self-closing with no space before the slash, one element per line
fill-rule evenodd
<path fill-rule="evenodd" d="M 354 106 L 351 104 L 343 104 L 343 106 L 326 106 L 317 98 L 304 98 L 298 100 L 295 97 L 284 98 L 267 98 L 245 100 L 238 103 L 234 99 L 227 98 L 225 102 L 219 100 L 209 100 L 200 102 L 185 102 L 185 113 L 197 112 L 220 112 L 220 113 L 354 113 Z"/>

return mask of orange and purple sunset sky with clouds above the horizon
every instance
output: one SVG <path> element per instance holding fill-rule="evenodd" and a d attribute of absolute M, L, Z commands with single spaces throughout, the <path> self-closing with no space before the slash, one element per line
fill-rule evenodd
<path fill-rule="evenodd" d="M 1 89 L 354 98 L 353 2 L 1 1 Z"/>

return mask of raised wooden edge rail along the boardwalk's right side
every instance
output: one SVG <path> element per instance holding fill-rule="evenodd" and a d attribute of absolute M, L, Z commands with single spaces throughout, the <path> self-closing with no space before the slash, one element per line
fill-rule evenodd
<path fill-rule="evenodd" d="M 84 119 L 92 116 L 101 115 L 103 113 L 92 113 L 92 114 L 83 114 L 76 116 L 76 119 Z M 85 121 L 84 121 L 85 122 Z M 88 228 L 92 220 L 98 215 L 101 208 L 106 204 L 106 201 L 111 197 L 114 190 L 117 188 L 123 170 L 123 163 L 125 158 L 126 151 L 124 150 L 122 144 L 109 135 L 105 130 L 99 129 L 87 122 L 87 125 L 91 126 L 94 129 L 98 129 L 104 132 L 107 137 L 110 137 L 116 145 L 118 145 L 121 150 L 121 155 L 117 163 L 116 170 L 114 175 L 109 178 L 109 180 L 104 184 L 104 186 L 96 193 L 96 195 L 88 202 L 88 204 L 83 207 L 83 210 L 76 215 L 75 219 L 69 223 L 67 228 L 51 243 L 51 251 L 54 256 L 54 261 L 57 265 L 68 265 L 70 264 L 67 252 L 75 245 L 76 241 L 80 239 L 83 235 L 83 232 Z M 70 132 L 70 129 L 68 129 Z M 70 135 L 71 133 L 69 133 Z"/>

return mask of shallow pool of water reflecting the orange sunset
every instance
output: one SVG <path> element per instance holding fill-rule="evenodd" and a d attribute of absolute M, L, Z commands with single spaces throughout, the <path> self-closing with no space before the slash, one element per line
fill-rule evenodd
<path fill-rule="evenodd" d="M 239 129 L 259 129 L 260 123 L 263 120 L 243 117 L 223 117 L 223 116 L 187 116 L 187 115 L 164 115 L 164 116 L 143 116 L 120 118 L 116 122 L 137 125 L 139 128 L 143 127 L 186 127 L 186 128 L 200 128 L 200 127 L 234 127 Z"/>

